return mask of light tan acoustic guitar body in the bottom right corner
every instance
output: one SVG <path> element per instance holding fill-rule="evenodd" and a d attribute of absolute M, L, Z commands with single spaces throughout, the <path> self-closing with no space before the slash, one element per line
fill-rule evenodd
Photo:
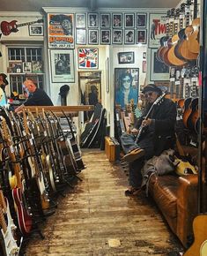
<path fill-rule="evenodd" d="M 207 252 L 206 245 L 203 246 L 203 242 L 207 239 L 207 215 L 197 215 L 193 221 L 193 231 L 195 240 L 193 245 L 184 253 L 183 256 L 205 256 L 207 254 L 201 254 L 200 252 Z M 203 246 L 203 248 L 202 248 Z M 203 253 L 202 252 L 202 253 Z"/>

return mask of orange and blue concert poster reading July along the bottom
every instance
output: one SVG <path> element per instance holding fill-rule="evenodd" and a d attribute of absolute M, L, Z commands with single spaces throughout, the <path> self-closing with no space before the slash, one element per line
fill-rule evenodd
<path fill-rule="evenodd" d="M 74 14 L 48 13 L 48 48 L 74 49 Z"/>

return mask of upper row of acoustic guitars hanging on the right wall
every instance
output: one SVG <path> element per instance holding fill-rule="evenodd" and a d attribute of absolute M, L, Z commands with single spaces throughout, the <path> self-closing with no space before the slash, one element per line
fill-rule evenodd
<path fill-rule="evenodd" d="M 187 0 L 181 8 L 167 11 L 166 35 L 160 39 L 157 51 L 160 62 L 168 66 L 183 66 L 196 61 L 200 50 L 200 18 L 197 16 L 197 0 L 193 4 Z"/>

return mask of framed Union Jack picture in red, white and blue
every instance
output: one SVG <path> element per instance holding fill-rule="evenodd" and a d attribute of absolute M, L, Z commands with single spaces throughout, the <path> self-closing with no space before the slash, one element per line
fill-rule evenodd
<path fill-rule="evenodd" d="M 98 69 L 99 49 L 98 48 L 78 48 L 78 68 Z"/>

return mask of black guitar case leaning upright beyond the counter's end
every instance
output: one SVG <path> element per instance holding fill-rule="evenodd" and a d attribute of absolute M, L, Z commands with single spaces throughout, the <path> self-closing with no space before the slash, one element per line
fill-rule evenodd
<path fill-rule="evenodd" d="M 99 131 L 106 109 L 97 103 L 92 114 L 92 120 L 85 125 L 85 131 L 80 135 L 80 147 L 91 147 Z"/>

